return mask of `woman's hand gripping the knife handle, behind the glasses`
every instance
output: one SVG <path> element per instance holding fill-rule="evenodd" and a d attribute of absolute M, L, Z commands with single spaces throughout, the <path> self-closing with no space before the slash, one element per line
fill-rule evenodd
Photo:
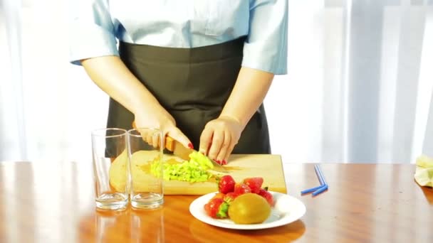
<path fill-rule="evenodd" d="M 144 112 L 146 111 L 146 112 Z M 179 141 L 185 147 L 192 147 L 191 141 L 176 126 L 176 121 L 165 109 L 141 109 L 135 112 L 134 128 L 151 127 L 162 131 L 162 136 L 171 136 L 174 140 Z M 155 148 L 160 146 L 160 140 L 152 134 L 141 134 L 147 144 Z"/>

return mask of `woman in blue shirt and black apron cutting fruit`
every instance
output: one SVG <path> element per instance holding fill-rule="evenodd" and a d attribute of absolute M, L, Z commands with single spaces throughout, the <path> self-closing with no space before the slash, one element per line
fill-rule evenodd
<path fill-rule="evenodd" d="M 110 95 L 108 127 L 158 127 L 224 164 L 271 153 L 262 102 L 286 73 L 287 0 L 76 2 L 71 62 Z"/>

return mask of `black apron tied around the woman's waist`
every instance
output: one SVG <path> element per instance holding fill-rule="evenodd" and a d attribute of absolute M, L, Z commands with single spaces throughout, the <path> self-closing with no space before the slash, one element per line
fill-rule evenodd
<path fill-rule="evenodd" d="M 234 87 L 245 38 L 199 48 L 162 48 L 120 42 L 120 58 L 172 114 L 199 148 L 208 121 L 219 117 Z M 241 104 L 240 104 L 241 105 Z M 110 99 L 108 127 L 131 129 L 134 115 Z M 264 106 L 251 117 L 232 153 L 271 153 Z"/>

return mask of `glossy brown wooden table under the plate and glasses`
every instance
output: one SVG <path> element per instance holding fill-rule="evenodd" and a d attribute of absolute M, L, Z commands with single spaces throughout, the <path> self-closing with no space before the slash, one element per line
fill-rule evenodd
<path fill-rule="evenodd" d="M 273 229 L 206 225 L 197 196 L 166 196 L 161 210 L 98 212 L 88 163 L 0 163 L 0 242 L 433 242 L 433 190 L 414 165 L 322 164 L 330 189 L 313 198 L 313 164 L 285 164 L 288 194 L 306 215 Z"/>

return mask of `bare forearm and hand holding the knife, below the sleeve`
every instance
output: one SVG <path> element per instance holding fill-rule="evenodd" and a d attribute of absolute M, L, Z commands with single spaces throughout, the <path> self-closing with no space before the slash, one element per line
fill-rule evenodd
<path fill-rule="evenodd" d="M 137 127 L 159 128 L 185 146 L 190 143 L 177 129 L 174 118 L 127 69 L 117 56 L 103 56 L 81 61 L 89 77 L 101 90 L 135 115 Z M 154 144 L 157 146 L 157 144 Z"/>

